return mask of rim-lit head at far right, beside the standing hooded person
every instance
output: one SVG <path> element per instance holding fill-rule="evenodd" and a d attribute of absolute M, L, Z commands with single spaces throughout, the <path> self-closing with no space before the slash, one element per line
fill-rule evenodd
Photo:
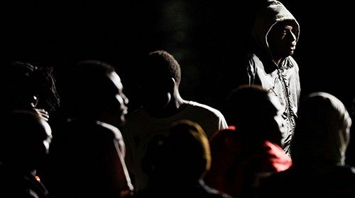
<path fill-rule="evenodd" d="M 344 165 L 351 118 L 342 101 L 329 93 L 311 93 L 300 103 L 291 143 L 295 165 Z"/>

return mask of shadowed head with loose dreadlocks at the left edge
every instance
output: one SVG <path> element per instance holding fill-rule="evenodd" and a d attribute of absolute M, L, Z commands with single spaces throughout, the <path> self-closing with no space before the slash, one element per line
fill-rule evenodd
<path fill-rule="evenodd" d="M 9 62 L 1 65 L 1 70 L 1 109 L 30 110 L 38 107 L 52 112 L 59 106 L 53 68 Z"/>

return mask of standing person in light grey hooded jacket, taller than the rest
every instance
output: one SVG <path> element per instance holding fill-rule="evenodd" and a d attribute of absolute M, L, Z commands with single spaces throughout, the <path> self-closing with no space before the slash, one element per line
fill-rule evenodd
<path fill-rule="evenodd" d="M 258 49 L 247 58 L 248 83 L 261 85 L 280 99 L 286 127 L 284 150 L 289 153 L 300 99 L 299 69 L 291 55 L 300 37 L 300 25 L 279 1 L 266 1 L 251 34 Z"/>

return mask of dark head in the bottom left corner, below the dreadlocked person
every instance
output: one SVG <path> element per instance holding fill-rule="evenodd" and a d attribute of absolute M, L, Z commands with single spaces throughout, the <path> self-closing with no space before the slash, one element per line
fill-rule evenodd
<path fill-rule="evenodd" d="M 0 122 L 0 161 L 19 170 L 40 168 L 48 154 L 50 125 L 36 113 L 8 112 Z"/>

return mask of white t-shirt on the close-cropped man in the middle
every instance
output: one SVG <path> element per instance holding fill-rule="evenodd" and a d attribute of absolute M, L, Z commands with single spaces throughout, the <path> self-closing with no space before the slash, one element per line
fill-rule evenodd
<path fill-rule="evenodd" d="M 178 120 L 190 120 L 200 124 L 209 138 L 220 129 L 228 127 L 224 115 L 207 105 L 190 101 L 178 114 L 166 118 L 153 118 L 143 109 L 138 109 L 126 117 L 123 135 L 126 144 L 126 164 L 133 173 L 136 192 L 148 185 L 148 175 L 143 173 L 141 161 L 153 136 L 168 135 L 170 124 Z"/>

